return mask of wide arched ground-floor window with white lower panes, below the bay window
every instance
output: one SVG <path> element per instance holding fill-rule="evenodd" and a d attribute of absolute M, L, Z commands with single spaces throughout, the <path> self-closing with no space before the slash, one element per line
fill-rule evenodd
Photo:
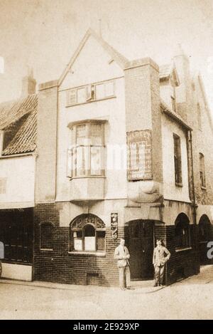
<path fill-rule="evenodd" d="M 83 214 L 70 224 L 70 251 L 104 251 L 105 225 L 97 216 Z"/>

